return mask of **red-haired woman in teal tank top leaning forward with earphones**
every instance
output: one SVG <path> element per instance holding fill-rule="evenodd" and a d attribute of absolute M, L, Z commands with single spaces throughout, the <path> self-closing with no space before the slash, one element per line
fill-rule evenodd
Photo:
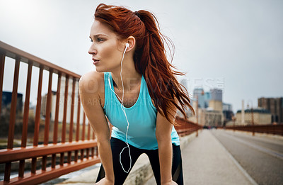
<path fill-rule="evenodd" d="M 94 17 L 88 53 L 96 72 L 84 74 L 79 86 L 98 140 L 97 184 L 123 184 L 142 153 L 149 156 L 157 184 L 183 184 L 173 124 L 177 110 L 185 116 L 192 107 L 174 76 L 182 73 L 166 59 L 155 16 L 100 4 Z"/>

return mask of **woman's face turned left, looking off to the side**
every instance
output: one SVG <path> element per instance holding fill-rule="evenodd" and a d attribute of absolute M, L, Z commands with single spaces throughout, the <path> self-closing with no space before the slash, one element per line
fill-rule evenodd
<path fill-rule="evenodd" d="M 123 47 L 118 44 L 117 35 L 105 24 L 94 21 L 91 26 L 91 47 L 93 65 L 97 72 L 112 72 L 119 69 Z"/>

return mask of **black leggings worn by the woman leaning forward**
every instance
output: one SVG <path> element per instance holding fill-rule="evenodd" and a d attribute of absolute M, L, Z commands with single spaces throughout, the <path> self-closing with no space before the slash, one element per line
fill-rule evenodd
<path fill-rule="evenodd" d="M 124 183 L 125 179 L 128 176 L 128 173 L 124 172 L 120 164 L 120 152 L 122 151 L 124 147 L 127 146 L 127 144 L 117 138 L 111 138 L 110 144 L 111 144 L 111 150 L 112 150 L 115 185 L 120 185 Z M 144 149 L 139 149 L 137 147 L 133 147 L 132 145 L 129 145 L 129 149 L 130 149 L 131 157 L 132 157 L 131 169 L 134 166 L 134 163 L 139 158 L 139 156 L 145 153 L 149 157 L 151 168 L 154 172 L 154 177 L 156 179 L 156 184 L 161 184 L 158 149 L 144 150 Z M 129 169 L 129 164 L 130 164 L 128 148 L 126 148 L 122 152 L 121 162 L 123 164 L 124 169 L 127 171 Z M 101 165 L 96 182 L 100 181 L 100 179 L 103 179 L 104 177 L 105 177 L 105 172 L 103 169 L 103 165 Z M 182 169 L 181 151 L 180 151 L 180 146 L 176 146 L 176 145 L 173 145 L 172 177 L 173 177 L 173 181 L 175 181 L 178 185 L 183 185 L 183 169 Z"/>

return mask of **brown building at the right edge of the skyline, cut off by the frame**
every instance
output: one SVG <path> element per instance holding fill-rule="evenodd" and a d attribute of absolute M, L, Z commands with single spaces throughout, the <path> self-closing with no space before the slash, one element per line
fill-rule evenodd
<path fill-rule="evenodd" d="M 272 123 L 283 123 L 283 97 L 262 97 L 258 99 L 258 106 L 270 111 Z"/>

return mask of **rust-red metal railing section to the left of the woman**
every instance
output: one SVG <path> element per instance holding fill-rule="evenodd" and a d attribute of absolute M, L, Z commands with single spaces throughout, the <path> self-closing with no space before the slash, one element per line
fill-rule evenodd
<path fill-rule="evenodd" d="M 83 121 L 81 121 L 81 103 L 79 93 L 76 94 L 78 89 L 79 74 L 53 65 L 50 62 L 42 60 L 38 57 L 18 50 L 11 45 L 7 45 L 0 41 L 0 113 L 3 95 L 4 83 L 4 65 L 6 57 L 10 57 L 15 62 L 13 74 L 13 91 L 11 98 L 11 109 L 8 123 L 8 141 L 6 149 L 0 150 L 0 164 L 5 164 L 4 181 L 0 184 L 39 184 L 50 179 L 54 179 L 62 174 L 82 169 L 100 162 L 97 151 L 97 143 L 95 135 L 91 133 L 91 126 L 86 124 L 86 116 L 83 113 Z M 16 105 L 18 95 L 18 77 L 20 64 L 24 62 L 28 64 L 27 82 L 25 88 L 25 103 L 23 108 L 23 121 L 21 133 L 21 147 L 13 147 L 14 142 L 14 128 L 16 123 Z M 33 67 L 39 68 L 38 86 L 37 86 L 37 104 L 35 110 L 35 126 L 33 133 L 33 145 L 27 146 L 28 140 L 28 120 L 30 109 L 30 84 L 32 79 Z M 40 118 L 40 108 L 42 107 L 42 74 L 44 71 L 49 72 L 47 101 L 45 121 Z M 52 120 L 53 138 L 49 137 L 50 134 L 50 113 L 52 103 L 52 77 L 53 74 L 58 75 L 57 92 L 56 92 L 56 107 L 55 117 Z M 59 99 L 62 78 L 64 78 L 64 113 L 62 123 L 59 123 Z M 69 81 L 71 80 L 71 115 L 69 123 L 67 123 L 67 106 L 68 106 L 68 92 Z M 77 101 L 76 101 L 77 100 Z M 78 102 L 77 105 L 75 102 Z M 76 107 L 76 113 L 74 112 Z M 74 115 L 76 115 L 76 127 L 74 127 Z M 1 115 L 0 115 L 1 116 Z M 40 133 L 40 123 L 44 123 L 44 132 Z M 2 124 L 2 123 L 1 123 Z M 58 141 L 59 125 L 62 127 L 61 141 Z M 69 125 L 69 129 L 67 126 Z M 86 130 L 87 129 L 87 130 Z M 75 130 L 75 137 L 73 136 Z M 69 140 L 66 141 L 66 135 L 69 133 Z M 43 142 L 39 145 L 40 135 L 43 136 Z M 85 138 L 87 137 L 87 138 Z M 81 139 L 80 139 L 81 138 Z M 80 155 L 79 155 L 80 152 Z M 65 156 L 65 154 L 67 156 Z M 30 168 L 25 167 L 27 162 L 30 162 Z M 37 168 L 38 161 L 41 162 L 40 169 Z M 51 162 L 49 162 L 51 161 Z M 10 179 L 11 164 L 18 162 L 18 177 Z M 27 172 L 27 169 L 29 172 Z"/>

